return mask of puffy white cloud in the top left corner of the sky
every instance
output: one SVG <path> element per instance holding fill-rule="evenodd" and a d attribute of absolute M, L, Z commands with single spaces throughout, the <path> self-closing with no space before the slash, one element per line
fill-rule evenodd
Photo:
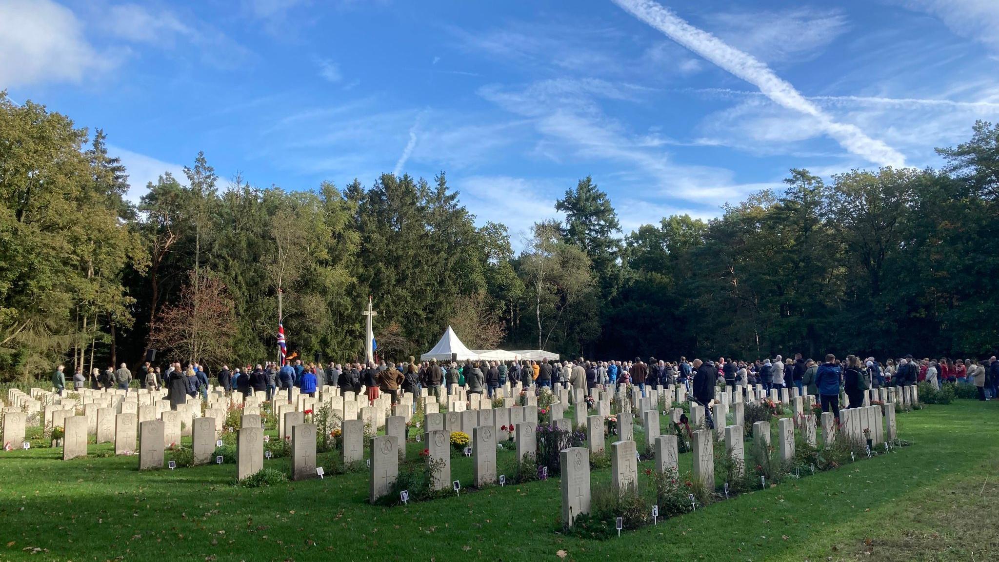
<path fill-rule="evenodd" d="M 50 0 L 0 1 L 0 87 L 81 82 L 115 64 L 87 41 L 68 8 Z"/>

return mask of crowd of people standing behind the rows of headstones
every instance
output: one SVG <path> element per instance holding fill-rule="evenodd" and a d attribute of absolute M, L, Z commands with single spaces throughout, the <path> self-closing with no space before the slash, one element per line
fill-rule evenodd
<path fill-rule="evenodd" d="M 65 367 L 59 365 L 52 375 L 52 384 L 61 393 L 66 386 Z M 149 390 L 167 388 L 167 398 L 172 405 L 183 404 L 188 396 L 207 398 L 209 376 L 202 365 L 191 363 L 186 368 L 180 363 L 170 364 L 166 371 L 149 362 L 139 367 L 140 385 Z M 91 373 L 92 388 L 130 388 L 132 372 L 122 363 L 118 369 L 109 366 L 104 372 L 94 369 Z M 256 366 L 230 369 L 223 365 L 218 371 L 218 383 L 227 392 L 237 390 L 244 395 L 261 393 L 271 400 L 279 391 L 298 388 L 303 394 L 315 396 L 325 385 L 343 391 L 361 392 L 367 388 L 368 399 L 374 401 L 381 394 L 398 402 L 402 393 L 418 394 L 422 388 L 440 397 L 451 392 L 452 385 L 468 385 L 469 394 L 496 396 L 497 390 L 507 382 L 520 382 L 524 386 L 551 387 L 553 384 L 589 389 L 595 386 L 616 387 L 632 384 L 645 395 L 646 388 L 656 385 L 683 385 L 691 399 L 705 406 L 714 398 L 716 385 L 761 385 L 765 390 L 796 387 L 801 394 L 816 396 L 822 411 L 832 411 L 839 418 L 840 391 L 849 398 L 852 406 L 863 402 L 863 392 L 868 388 L 903 386 L 927 382 L 934 388 L 942 383 L 974 385 L 979 400 L 999 397 L 999 361 L 993 356 L 987 360 L 915 359 L 911 355 L 884 363 L 873 357 L 861 359 L 848 355 L 837 359 L 826 355 L 823 361 L 806 359 L 797 353 L 794 357 L 780 355 L 772 359 L 741 361 L 719 357 L 717 361 L 694 359 L 687 361 L 657 360 L 649 357 L 643 361 L 432 361 L 417 362 L 413 356 L 399 364 L 379 361 L 369 364 L 304 363 L 302 360 L 278 366 L 263 363 Z M 83 388 L 86 380 L 77 369 L 73 376 L 75 389 Z M 709 415 L 709 412 L 707 412 Z"/>

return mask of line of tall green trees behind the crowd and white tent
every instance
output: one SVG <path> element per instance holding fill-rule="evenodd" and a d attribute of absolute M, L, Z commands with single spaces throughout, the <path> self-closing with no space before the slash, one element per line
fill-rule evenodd
<path fill-rule="evenodd" d="M 388 357 L 451 324 L 474 349 L 601 357 L 777 351 L 977 356 L 999 344 L 999 126 L 939 149 L 939 169 L 792 169 L 784 190 L 621 231 L 578 181 L 514 252 L 442 172 L 311 190 L 220 180 L 204 154 L 138 203 L 93 135 L 0 94 L 0 374 L 207 365 L 289 349 L 363 354 L 367 297 Z M 554 215 L 554 213 L 552 213 Z"/>

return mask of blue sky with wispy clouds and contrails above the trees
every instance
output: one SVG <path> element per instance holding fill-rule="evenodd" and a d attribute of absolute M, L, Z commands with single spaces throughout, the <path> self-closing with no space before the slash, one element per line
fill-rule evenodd
<path fill-rule="evenodd" d="M 199 150 L 286 189 L 445 170 L 516 242 L 586 175 L 629 231 L 938 165 L 999 120 L 999 1 L 0 0 L 0 88 L 104 128 L 133 198 Z"/>

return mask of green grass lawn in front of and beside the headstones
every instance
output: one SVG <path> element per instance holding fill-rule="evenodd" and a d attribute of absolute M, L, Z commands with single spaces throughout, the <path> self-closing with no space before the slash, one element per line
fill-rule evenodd
<path fill-rule="evenodd" d="M 0 560 L 999 560 L 997 422 L 999 405 L 970 400 L 900 414 L 910 447 L 605 541 L 558 532 L 556 478 L 388 508 L 368 505 L 366 473 L 250 489 L 231 464 L 0 453 Z M 471 482 L 471 459 L 452 470 Z"/>

